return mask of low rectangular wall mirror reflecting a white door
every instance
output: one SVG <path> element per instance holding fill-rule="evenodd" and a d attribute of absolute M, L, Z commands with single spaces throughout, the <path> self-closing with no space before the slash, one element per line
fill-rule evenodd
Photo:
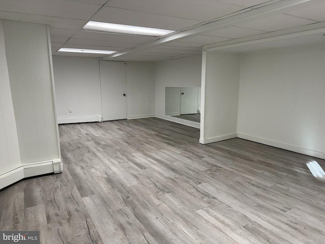
<path fill-rule="evenodd" d="M 166 86 L 165 115 L 200 123 L 201 86 Z"/>

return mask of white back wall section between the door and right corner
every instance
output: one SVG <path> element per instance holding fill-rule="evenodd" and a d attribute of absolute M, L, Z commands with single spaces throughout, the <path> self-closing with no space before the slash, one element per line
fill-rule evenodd
<path fill-rule="evenodd" d="M 127 118 L 155 114 L 154 64 L 126 62 Z"/>

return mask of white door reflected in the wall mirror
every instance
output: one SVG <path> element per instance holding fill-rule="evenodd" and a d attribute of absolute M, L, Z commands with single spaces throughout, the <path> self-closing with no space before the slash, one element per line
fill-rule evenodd
<path fill-rule="evenodd" d="M 181 87 L 181 114 L 198 113 L 198 87 Z"/>

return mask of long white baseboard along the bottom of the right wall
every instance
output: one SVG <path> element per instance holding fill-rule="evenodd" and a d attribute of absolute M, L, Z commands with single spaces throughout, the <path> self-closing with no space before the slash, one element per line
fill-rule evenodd
<path fill-rule="evenodd" d="M 289 145 L 289 144 L 285 144 L 282 142 L 272 141 L 272 140 L 268 140 L 268 139 L 264 139 L 264 138 L 255 137 L 255 136 L 250 136 L 250 135 L 246 135 L 246 134 L 242 134 L 242 133 L 238 133 L 238 137 L 245 139 L 245 140 L 262 143 L 265 145 L 274 146 L 274 147 L 289 150 L 289 151 L 294 151 L 295 153 L 304 154 L 304 155 L 316 157 L 319 159 L 325 159 L 325 153 L 322 153 L 321 151 L 314 151 L 311 149 L 294 146 L 294 145 Z"/>

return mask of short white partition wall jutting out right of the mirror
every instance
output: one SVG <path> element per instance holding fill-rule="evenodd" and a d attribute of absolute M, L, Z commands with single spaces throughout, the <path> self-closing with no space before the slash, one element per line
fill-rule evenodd
<path fill-rule="evenodd" d="M 207 52 L 201 143 L 237 137 L 240 55 Z M 202 116 L 202 115 L 201 115 Z"/>

